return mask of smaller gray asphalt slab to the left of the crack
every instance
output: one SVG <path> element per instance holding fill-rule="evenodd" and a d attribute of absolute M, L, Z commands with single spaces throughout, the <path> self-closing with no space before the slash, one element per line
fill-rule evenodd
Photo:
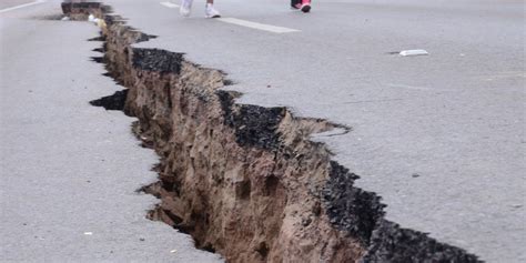
<path fill-rule="evenodd" d="M 145 219 L 156 156 L 134 120 L 89 101 L 122 88 L 90 60 L 88 22 L 49 21 L 59 2 L 0 14 L 0 261 L 221 262 Z"/>

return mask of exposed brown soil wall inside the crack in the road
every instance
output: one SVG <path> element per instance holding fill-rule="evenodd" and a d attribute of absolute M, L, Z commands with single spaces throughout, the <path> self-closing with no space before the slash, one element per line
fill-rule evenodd
<path fill-rule="evenodd" d="M 233 103 L 225 75 L 163 50 L 132 49 L 148 37 L 109 23 L 107 59 L 129 87 L 124 111 L 161 159 L 162 202 L 150 218 L 190 233 L 229 262 L 348 262 L 363 249 L 331 226 L 321 201 L 328 152 L 307 136 L 322 120 Z M 149 61 L 150 58 L 151 61 Z M 280 134 L 280 135 L 277 135 Z"/>

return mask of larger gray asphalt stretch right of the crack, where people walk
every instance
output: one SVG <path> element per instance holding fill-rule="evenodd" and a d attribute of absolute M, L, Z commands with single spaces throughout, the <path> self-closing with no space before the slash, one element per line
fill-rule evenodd
<path fill-rule="evenodd" d="M 109 0 L 158 39 L 230 74 L 243 103 L 289 107 L 352 127 L 317 138 L 377 193 L 386 219 L 489 262 L 524 262 L 524 14 L 520 1 L 218 1 L 224 17 L 300 30 L 272 33 L 191 18 L 156 1 Z M 176 2 L 175 2 L 176 3 Z M 426 57 L 394 53 L 425 49 Z"/>

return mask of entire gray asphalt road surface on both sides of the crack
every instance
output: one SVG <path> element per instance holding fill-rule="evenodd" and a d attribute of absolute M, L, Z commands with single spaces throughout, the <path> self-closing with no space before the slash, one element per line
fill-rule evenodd
<path fill-rule="evenodd" d="M 523 1 L 327 0 L 306 16 L 282 0 L 216 1 L 225 17 L 300 30 L 283 34 L 205 20 L 201 0 L 189 19 L 161 1 L 107 2 L 160 36 L 142 47 L 227 72 L 240 102 L 353 127 L 317 140 L 384 198 L 387 219 L 488 262 L 526 261 Z M 85 104 L 115 85 L 88 62 L 93 27 L 29 19 L 53 8 L 0 14 L 0 257 L 214 260 L 144 220 L 155 201 L 133 191 L 155 158 L 130 119 Z M 405 49 L 431 54 L 390 54 Z"/>

